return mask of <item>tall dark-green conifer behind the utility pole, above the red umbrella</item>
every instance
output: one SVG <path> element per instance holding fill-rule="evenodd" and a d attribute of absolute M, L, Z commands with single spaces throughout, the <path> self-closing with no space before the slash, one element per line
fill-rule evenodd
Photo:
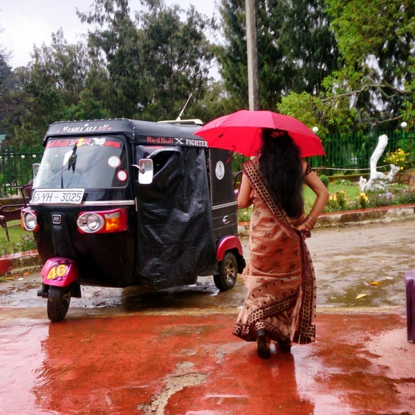
<path fill-rule="evenodd" d="M 223 0 L 226 44 L 216 50 L 230 110 L 248 106 L 244 0 Z M 329 30 L 324 0 L 259 0 L 258 49 L 261 106 L 275 109 L 291 91 L 318 93 L 338 68 L 338 49 Z"/>

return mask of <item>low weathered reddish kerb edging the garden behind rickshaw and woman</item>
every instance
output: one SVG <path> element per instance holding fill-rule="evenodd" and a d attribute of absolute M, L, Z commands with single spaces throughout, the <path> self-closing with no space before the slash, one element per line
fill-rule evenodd
<path fill-rule="evenodd" d="M 415 219 L 415 205 L 387 206 L 367 210 L 350 210 L 333 214 L 322 214 L 317 221 L 318 228 L 347 226 L 356 223 L 390 222 L 401 219 Z M 238 225 L 239 237 L 249 236 L 249 222 Z M 24 272 L 36 272 L 42 268 L 37 250 L 18 252 L 0 257 L 0 276 Z"/>

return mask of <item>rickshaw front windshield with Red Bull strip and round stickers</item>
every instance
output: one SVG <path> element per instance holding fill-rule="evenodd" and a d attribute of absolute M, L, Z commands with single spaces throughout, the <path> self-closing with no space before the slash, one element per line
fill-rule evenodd
<path fill-rule="evenodd" d="M 53 138 L 46 144 L 33 188 L 109 189 L 126 183 L 127 154 L 120 138 Z"/>

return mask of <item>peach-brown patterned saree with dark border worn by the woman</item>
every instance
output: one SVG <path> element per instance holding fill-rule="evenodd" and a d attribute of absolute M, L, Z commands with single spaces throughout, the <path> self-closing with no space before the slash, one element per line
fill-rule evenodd
<path fill-rule="evenodd" d="M 243 165 L 255 190 L 250 260 L 242 277 L 248 288 L 233 334 L 248 342 L 266 329 L 278 344 L 315 340 L 315 275 L 301 234 L 271 198 L 256 160 Z"/>

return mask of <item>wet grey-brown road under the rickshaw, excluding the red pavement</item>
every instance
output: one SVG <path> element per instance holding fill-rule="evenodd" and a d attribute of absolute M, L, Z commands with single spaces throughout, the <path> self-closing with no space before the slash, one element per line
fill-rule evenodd
<path fill-rule="evenodd" d="M 415 268 L 415 221 L 360 225 L 315 230 L 307 240 L 317 277 L 317 306 L 376 307 L 405 306 L 403 275 Z M 248 239 L 242 240 L 249 257 Z M 46 306 L 40 299 L 40 274 L 0 284 L 0 307 Z M 374 285 L 370 284 L 375 283 Z M 366 297 L 356 300 L 360 294 Z M 163 293 L 142 293 L 140 288 L 82 287 L 82 299 L 71 300 L 68 317 L 103 311 L 126 312 L 149 308 L 237 308 L 246 288 L 239 278 L 231 291 L 219 293 L 212 277 L 199 277 L 198 284 Z M 98 308 L 98 311 L 97 311 Z M 82 312 L 81 310 L 84 310 Z"/>

